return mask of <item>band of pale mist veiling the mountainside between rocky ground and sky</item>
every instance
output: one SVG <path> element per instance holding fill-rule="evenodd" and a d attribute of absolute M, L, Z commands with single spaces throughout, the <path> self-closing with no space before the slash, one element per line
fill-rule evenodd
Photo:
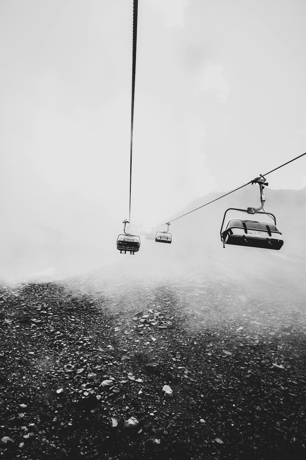
<path fill-rule="evenodd" d="M 170 219 L 188 213 L 223 193 L 210 193 L 192 201 Z M 139 253 L 120 254 L 116 248 L 122 224 L 90 202 L 46 211 L 41 222 L 33 218 L 12 218 L 1 227 L 0 276 L 18 281 L 24 278 L 57 279 L 81 275 L 105 267 L 106 271 L 128 272 L 134 276 L 163 279 L 203 270 L 210 276 L 228 277 L 251 287 L 271 286 L 294 299 L 305 297 L 306 270 L 306 188 L 271 190 L 265 188 L 265 211 L 276 216 L 284 237 L 279 251 L 226 246 L 220 240 L 220 227 L 228 207 L 260 205 L 259 187 L 248 186 L 175 220 L 170 226 L 172 244 L 158 244 L 141 237 Z M 230 211 L 226 220 L 238 216 Z M 247 214 L 241 217 L 250 219 Z M 269 221 L 267 216 L 261 220 Z M 166 230 L 166 226 L 155 230 Z M 98 270 L 99 271 L 99 270 Z M 103 270 L 102 270 L 103 272 Z M 102 273 L 101 272 L 101 273 Z M 40 273 L 40 275 L 36 275 Z"/>

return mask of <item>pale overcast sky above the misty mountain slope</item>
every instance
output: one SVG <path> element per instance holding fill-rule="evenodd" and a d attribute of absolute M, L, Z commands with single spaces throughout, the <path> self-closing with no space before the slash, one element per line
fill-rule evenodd
<path fill-rule="evenodd" d="M 157 224 L 305 151 L 305 8 L 139 0 L 132 220 Z M 0 1 L 5 220 L 60 228 L 91 203 L 122 230 L 132 15 L 132 0 Z M 301 189 L 305 171 L 303 157 L 269 185 Z"/>

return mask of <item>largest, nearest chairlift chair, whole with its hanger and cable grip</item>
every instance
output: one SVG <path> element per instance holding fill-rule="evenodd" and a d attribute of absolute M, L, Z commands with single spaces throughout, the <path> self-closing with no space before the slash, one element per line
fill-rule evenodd
<path fill-rule="evenodd" d="M 230 207 L 225 211 L 220 230 L 223 247 L 225 247 L 225 244 L 234 244 L 237 246 L 262 247 L 264 249 L 278 250 L 283 246 L 284 241 L 281 232 L 276 226 L 275 216 L 272 213 L 259 211 L 260 209 L 263 209 L 266 200 L 262 193 L 264 185 L 268 185 L 265 180 L 266 179 L 263 176 L 260 176 L 252 181 L 252 184 L 259 184 L 261 207 L 248 207 L 247 209 Z M 234 218 L 227 221 L 223 230 L 226 213 L 230 210 L 241 211 L 248 214 L 266 214 L 270 216 L 274 222 L 260 222 L 256 220 L 242 220 Z"/>

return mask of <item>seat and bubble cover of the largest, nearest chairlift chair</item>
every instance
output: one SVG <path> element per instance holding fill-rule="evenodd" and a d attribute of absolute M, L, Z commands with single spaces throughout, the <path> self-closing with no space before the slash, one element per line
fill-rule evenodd
<path fill-rule="evenodd" d="M 275 224 L 253 220 L 228 220 L 222 237 L 225 244 L 237 246 L 278 250 L 284 244 L 282 234 Z"/>

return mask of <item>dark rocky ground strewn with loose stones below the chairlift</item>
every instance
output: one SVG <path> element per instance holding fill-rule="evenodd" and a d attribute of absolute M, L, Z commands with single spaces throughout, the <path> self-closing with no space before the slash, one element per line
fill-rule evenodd
<path fill-rule="evenodd" d="M 305 304 L 284 294 L 200 272 L 3 286 L 0 334 L 0 458 L 306 456 Z"/>

